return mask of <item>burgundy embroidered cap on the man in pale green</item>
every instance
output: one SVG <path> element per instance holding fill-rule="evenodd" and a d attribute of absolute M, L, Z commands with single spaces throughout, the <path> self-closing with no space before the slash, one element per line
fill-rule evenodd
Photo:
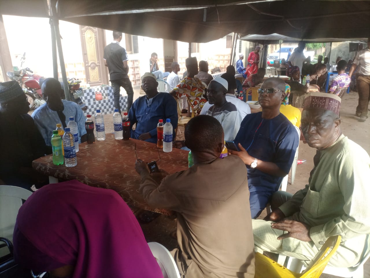
<path fill-rule="evenodd" d="M 320 108 L 332 111 L 339 116 L 340 97 L 330 93 L 312 92 L 305 98 L 303 102 L 303 110 L 309 108 Z"/>

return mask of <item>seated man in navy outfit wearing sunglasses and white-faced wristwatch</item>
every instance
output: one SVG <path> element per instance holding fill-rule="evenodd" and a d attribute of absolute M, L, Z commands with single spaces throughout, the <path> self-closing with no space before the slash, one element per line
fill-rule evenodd
<path fill-rule="evenodd" d="M 239 156 L 248 170 L 249 202 L 252 218 L 257 218 L 292 166 L 299 143 L 297 132 L 280 113 L 285 98 L 285 82 L 270 77 L 258 90 L 262 112 L 247 115 L 235 138 Z"/>

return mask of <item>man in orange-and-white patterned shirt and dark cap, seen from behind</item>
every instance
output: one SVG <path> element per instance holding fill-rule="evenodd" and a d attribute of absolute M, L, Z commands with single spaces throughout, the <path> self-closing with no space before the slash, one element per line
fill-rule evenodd
<path fill-rule="evenodd" d="M 185 60 L 187 76 L 183 79 L 174 90 L 171 95 L 177 98 L 186 96 L 189 99 L 191 109 L 195 113 L 200 113 L 206 99 L 203 96 L 205 86 L 202 84 L 199 78 L 195 77 L 198 74 L 198 62 L 196 57 L 191 57 Z M 191 117 L 190 111 L 188 111 L 188 117 Z"/>

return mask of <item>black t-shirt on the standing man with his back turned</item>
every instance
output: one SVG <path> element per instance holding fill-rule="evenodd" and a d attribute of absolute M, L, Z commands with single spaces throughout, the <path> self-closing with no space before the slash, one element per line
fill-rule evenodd
<path fill-rule="evenodd" d="M 127 69 L 123 67 L 123 61 L 127 61 L 126 50 L 119 43 L 110 43 L 104 47 L 104 59 L 107 60 L 111 80 L 128 77 Z"/>

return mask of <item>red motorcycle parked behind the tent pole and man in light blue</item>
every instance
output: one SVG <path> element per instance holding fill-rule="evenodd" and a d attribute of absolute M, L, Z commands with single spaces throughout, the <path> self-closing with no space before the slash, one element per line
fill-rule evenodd
<path fill-rule="evenodd" d="M 41 92 L 41 84 L 45 80 L 45 77 L 34 74 L 28 67 L 23 69 L 22 66 L 25 59 L 26 52 L 21 57 L 21 69 L 19 70 L 18 67 L 13 67 L 13 72 L 7 72 L 6 75 L 11 80 L 19 83 L 27 96 L 27 101 L 30 103 L 30 110 L 33 110 L 45 103 Z M 81 96 L 83 96 L 84 92 L 80 88 L 80 83 L 81 81 L 75 78 L 68 80 L 70 100 L 77 103 L 82 110 L 86 110 L 87 106 L 81 100 Z M 61 86 L 63 88 L 63 82 L 61 82 Z M 61 97 L 65 99 L 64 93 Z"/>

